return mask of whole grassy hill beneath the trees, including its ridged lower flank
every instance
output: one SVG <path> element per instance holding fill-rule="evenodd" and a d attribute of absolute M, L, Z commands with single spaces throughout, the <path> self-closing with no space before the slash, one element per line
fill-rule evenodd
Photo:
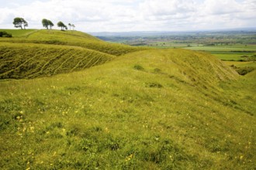
<path fill-rule="evenodd" d="M 0 39 L 0 79 L 35 78 L 70 73 L 142 50 L 103 42 L 84 32 L 5 30 L 15 37 Z"/>

